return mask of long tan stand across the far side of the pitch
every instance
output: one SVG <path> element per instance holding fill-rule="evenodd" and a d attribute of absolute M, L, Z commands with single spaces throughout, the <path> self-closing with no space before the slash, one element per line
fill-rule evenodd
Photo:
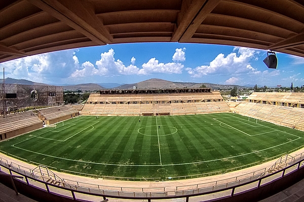
<path fill-rule="evenodd" d="M 145 90 L 143 90 L 145 91 Z M 158 90 L 158 92 L 161 90 Z M 231 112 L 219 92 L 183 89 L 184 93 L 91 94 L 82 115 L 190 115 Z M 189 92 L 191 91 L 191 92 Z M 105 92 L 105 91 L 103 91 Z M 127 109 L 127 110 L 126 110 Z"/>

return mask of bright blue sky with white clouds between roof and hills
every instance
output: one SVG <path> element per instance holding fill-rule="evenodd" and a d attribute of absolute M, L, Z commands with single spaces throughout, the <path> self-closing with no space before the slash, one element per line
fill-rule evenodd
<path fill-rule="evenodd" d="M 128 43 L 69 49 L 5 63 L 5 75 L 48 84 L 136 83 L 151 78 L 236 85 L 304 85 L 304 58 L 277 53 L 268 69 L 267 51 L 210 44 Z"/>

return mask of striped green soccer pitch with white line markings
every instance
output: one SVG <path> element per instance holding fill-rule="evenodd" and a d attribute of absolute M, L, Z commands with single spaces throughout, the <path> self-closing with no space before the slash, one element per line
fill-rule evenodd
<path fill-rule="evenodd" d="M 232 113 L 81 116 L 0 142 L 0 150 L 57 170 L 164 178 L 260 162 L 303 145 L 302 137 L 302 131 Z"/>

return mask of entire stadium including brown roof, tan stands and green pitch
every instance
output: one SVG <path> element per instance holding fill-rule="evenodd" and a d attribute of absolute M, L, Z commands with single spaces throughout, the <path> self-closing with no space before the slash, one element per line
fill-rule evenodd
<path fill-rule="evenodd" d="M 235 44 L 304 56 L 302 32 L 297 31 L 303 25 L 293 23 L 288 30 L 289 21 L 302 20 L 301 3 L 280 1 L 290 12 L 256 2 L 156 2 L 163 10 L 147 9 L 154 8 L 153 1 L 124 3 L 129 16 L 118 2 L 3 3 L 0 61 L 146 41 Z M 236 12 L 243 15 L 238 19 L 233 13 L 240 7 L 263 15 L 249 19 Z M 79 9 L 83 16 L 75 14 Z M 270 21 L 273 29 L 260 19 L 270 11 L 281 17 Z M 132 25 L 138 32 L 132 32 L 120 24 L 122 18 L 115 18 L 121 14 L 130 21 L 139 16 L 147 20 L 158 12 L 163 15 L 154 16 L 163 22 L 155 22 L 151 32 L 138 22 Z M 178 26 L 164 26 L 174 16 Z M 220 17 L 231 19 L 226 19 L 227 35 L 217 27 Z M 90 23 L 92 19 L 100 26 Z M 247 27 L 249 20 L 256 35 Z M 21 27 L 20 22 L 26 23 Z M 280 37 L 266 34 L 279 29 L 276 23 L 285 32 L 280 30 Z M 204 33 L 204 26 L 212 33 Z M 248 38 L 238 35 L 241 28 Z M 0 179 L 17 196 L 19 192 L 38 201 L 267 201 L 303 179 L 304 93 L 253 92 L 243 102 L 227 103 L 211 88 L 106 89 L 92 93 L 84 105 L 63 105 L 61 86 L 3 83 L 1 92 Z M 301 193 L 285 198 L 300 201 Z"/>

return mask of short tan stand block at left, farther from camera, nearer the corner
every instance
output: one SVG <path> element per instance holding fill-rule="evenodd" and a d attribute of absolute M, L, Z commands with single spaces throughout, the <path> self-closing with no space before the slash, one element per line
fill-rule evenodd
<path fill-rule="evenodd" d="M 43 120 L 46 125 L 64 121 L 78 115 L 79 111 L 72 106 L 58 106 L 38 111 L 38 117 Z"/>

